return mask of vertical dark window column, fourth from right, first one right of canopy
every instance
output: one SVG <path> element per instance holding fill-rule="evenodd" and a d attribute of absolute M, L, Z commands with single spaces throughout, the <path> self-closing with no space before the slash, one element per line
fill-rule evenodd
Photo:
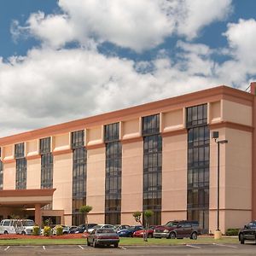
<path fill-rule="evenodd" d="M 72 224 L 84 223 L 84 214 L 79 208 L 86 205 L 86 171 L 87 152 L 84 148 L 84 130 L 72 132 L 71 145 L 73 149 L 73 200 Z"/>

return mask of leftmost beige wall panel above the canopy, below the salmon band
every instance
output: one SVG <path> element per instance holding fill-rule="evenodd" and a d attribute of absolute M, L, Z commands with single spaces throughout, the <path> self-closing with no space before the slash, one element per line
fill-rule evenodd
<path fill-rule="evenodd" d="M 3 189 L 15 189 L 16 162 L 3 164 Z"/>

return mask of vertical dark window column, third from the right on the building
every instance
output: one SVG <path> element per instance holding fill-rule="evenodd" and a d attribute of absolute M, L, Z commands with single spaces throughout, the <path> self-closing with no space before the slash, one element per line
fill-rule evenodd
<path fill-rule="evenodd" d="M 105 223 L 120 224 L 122 185 L 122 146 L 119 142 L 119 123 L 105 125 L 106 183 Z"/>

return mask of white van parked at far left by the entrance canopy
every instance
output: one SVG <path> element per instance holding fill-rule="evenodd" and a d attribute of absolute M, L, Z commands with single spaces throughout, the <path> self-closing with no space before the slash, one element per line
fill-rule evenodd
<path fill-rule="evenodd" d="M 3 219 L 0 223 L 0 234 L 31 235 L 34 225 L 32 219 Z"/>

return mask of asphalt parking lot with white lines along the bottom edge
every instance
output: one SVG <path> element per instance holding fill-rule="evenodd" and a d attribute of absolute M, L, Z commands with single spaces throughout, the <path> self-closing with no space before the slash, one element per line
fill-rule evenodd
<path fill-rule="evenodd" d="M 179 246 L 87 247 L 73 246 L 2 246 L 0 255 L 255 255 L 254 243 L 184 244 Z"/>

